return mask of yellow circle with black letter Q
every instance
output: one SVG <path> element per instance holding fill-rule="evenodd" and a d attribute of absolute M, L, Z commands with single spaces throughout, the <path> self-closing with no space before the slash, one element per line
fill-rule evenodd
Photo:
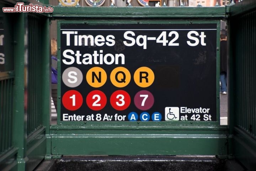
<path fill-rule="evenodd" d="M 110 80 L 116 87 L 125 87 L 129 84 L 131 79 L 128 69 L 120 66 L 112 70 Z"/>

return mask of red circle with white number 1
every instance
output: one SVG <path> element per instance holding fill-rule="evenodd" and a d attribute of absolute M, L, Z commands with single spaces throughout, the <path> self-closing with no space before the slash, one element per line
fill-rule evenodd
<path fill-rule="evenodd" d="M 62 97 L 63 106 L 70 111 L 79 109 L 82 106 L 82 102 L 82 95 L 76 90 L 69 90 Z"/>

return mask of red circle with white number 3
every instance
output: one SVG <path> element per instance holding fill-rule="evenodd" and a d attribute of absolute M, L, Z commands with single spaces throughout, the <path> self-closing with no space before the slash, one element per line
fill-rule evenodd
<path fill-rule="evenodd" d="M 130 106 L 130 95 L 124 90 L 117 90 L 112 93 L 110 104 L 114 109 L 123 111 Z"/>

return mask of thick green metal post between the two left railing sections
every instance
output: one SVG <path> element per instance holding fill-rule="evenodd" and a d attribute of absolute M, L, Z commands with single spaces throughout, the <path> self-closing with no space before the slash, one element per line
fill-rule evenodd
<path fill-rule="evenodd" d="M 25 156 L 27 142 L 27 13 L 21 12 L 14 22 L 14 117 L 13 117 L 13 145 L 18 148 L 18 170 L 25 171 Z"/>

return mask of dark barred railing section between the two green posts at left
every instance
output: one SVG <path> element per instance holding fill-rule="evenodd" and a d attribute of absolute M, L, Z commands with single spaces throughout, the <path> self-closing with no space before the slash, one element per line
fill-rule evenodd
<path fill-rule="evenodd" d="M 42 126 L 42 24 L 28 15 L 28 120 L 27 134 Z"/>

